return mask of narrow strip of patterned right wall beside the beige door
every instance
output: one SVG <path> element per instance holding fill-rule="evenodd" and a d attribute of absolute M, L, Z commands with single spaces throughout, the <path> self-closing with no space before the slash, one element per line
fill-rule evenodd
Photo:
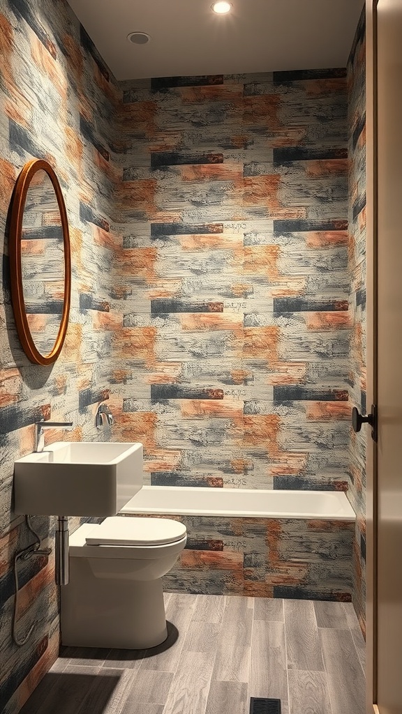
<path fill-rule="evenodd" d="M 348 61 L 349 96 L 349 272 L 353 320 L 348 378 L 350 407 L 361 413 L 366 404 L 366 27 L 365 11 L 356 31 Z M 350 490 L 357 514 L 353 552 L 353 603 L 363 631 L 366 622 L 366 441 L 368 430 L 350 430 Z"/>

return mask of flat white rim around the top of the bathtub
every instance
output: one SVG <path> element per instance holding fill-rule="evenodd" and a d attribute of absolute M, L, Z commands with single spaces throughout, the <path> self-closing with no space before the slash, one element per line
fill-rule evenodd
<path fill-rule="evenodd" d="M 215 510 L 210 510 L 207 511 L 205 508 L 162 508 L 160 506 L 158 507 L 151 507 L 151 506 L 137 506 L 134 507 L 135 504 L 132 506 L 130 505 L 132 501 L 135 499 L 135 496 L 129 503 L 124 506 L 119 513 L 121 513 L 123 516 L 130 516 L 134 515 L 136 513 L 141 513 L 141 514 L 148 514 L 149 516 L 160 516 L 160 515 L 166 515 L 166 516 L 202 516 L 207 518 L 210 516 L 211 518 L 275 518 L 277 520 L 290 520 L 290 519 L 300 519 L 300 520 L 305 520 L 305 521 L 348 521 L 349 523 L 353 523 L 356 521 L 356 513 L 353 510 L 353 506 L 350 504 L 350 501 L 348 500 L 348 496 L 346 496 L 345 491 L 303 491 L 303 490 L 284 490 L 284 489 L 258 489 L 258 488 L 212 488 L 212 487 L 204 487 L 204 486 L 151 486 L 149 484 L 144 484 L 142 486 L 142 489 L 140 491 L 146 491 L 149 492 L 151 490 L 157 490 L 157 491 L 167 491 L 171 489 L 177 489 L 180 492 L 185 492 L 185 493 L 192 493 L 194 495 L 197 492 L 202 492 L 202 493 L 208 493 L 211 495 L 211 492 L 217 491 L 217 492 L 223 492 L 223 491 L 235 491 L 236 493 L 239 494 L 239 496 L 242 493 L 250 493 L 250 492 L 259 492 L 259 493 L 266 493 L 273 495 L 275 493 L 286 493 L 289 496 L 300 496 L 300 494 L 303 493 L 303 495 L 311 496 L 312 493 L 317 493 L 317 494 L 322 494 L 323 496 L 336 496 L 337 499 L 341 499 L 343 501 L 343 508 L 345 509 L 344 513 L 317 513 L 313 511 L 305 511 L 303 513 L 298 513 L 298 512 L 292 512 L 292 511 L 283 511 L 283 513 L 279 511 L 230 511 L 228 509 L 215 509 Z"/>

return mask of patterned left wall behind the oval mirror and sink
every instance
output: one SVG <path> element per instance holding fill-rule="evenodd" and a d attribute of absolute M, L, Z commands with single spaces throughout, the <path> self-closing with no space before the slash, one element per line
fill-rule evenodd
<path fill-rule="evenodd" d="M 42 417 L 74 421 L 69 436 L 76 441 L 110 438 L 94 428 L 94 409 L 109 394 L 110 127 L 121 92 L 63 0 L 0 0 L 0 55 L 0 710 L 14 714 L 59 647 L 53 558 L 20 563 L 18 633 L 31 623 L 35 630 L 21 648 L 11 638 L 14 553 L 33 541 L 11 510 L 14 459 L 32 451 L 33 423 Z M 32 365 L 21 352 L 10 306 L 6 215 L 16 176 L 32 157 L 49 159 L 57 171 L 72 241 L 72 313 L 52 368 Z M 52 431 L 48 438 L 59 436 L 66 437 Z M 53 545 L 53 520 L 33 523 Z"/>

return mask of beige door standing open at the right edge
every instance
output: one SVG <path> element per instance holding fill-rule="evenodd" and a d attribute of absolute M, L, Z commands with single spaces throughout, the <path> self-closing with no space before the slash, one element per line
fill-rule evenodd
<path fill-rule="evenodd" d="M 402 0 L 378 0 L 371 7 L 377 75 L 378 403 L 371 701 L 379 714 L 402 714 Z"/>

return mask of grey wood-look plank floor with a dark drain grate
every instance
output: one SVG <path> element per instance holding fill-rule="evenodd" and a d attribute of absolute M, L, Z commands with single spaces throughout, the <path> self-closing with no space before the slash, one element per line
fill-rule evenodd
<path fill-rule="evenodd" d="M 350 603 L 165 596 L 153 650 L 62 648 L 21 714 L 364 714 L 364 641 Z"/>

